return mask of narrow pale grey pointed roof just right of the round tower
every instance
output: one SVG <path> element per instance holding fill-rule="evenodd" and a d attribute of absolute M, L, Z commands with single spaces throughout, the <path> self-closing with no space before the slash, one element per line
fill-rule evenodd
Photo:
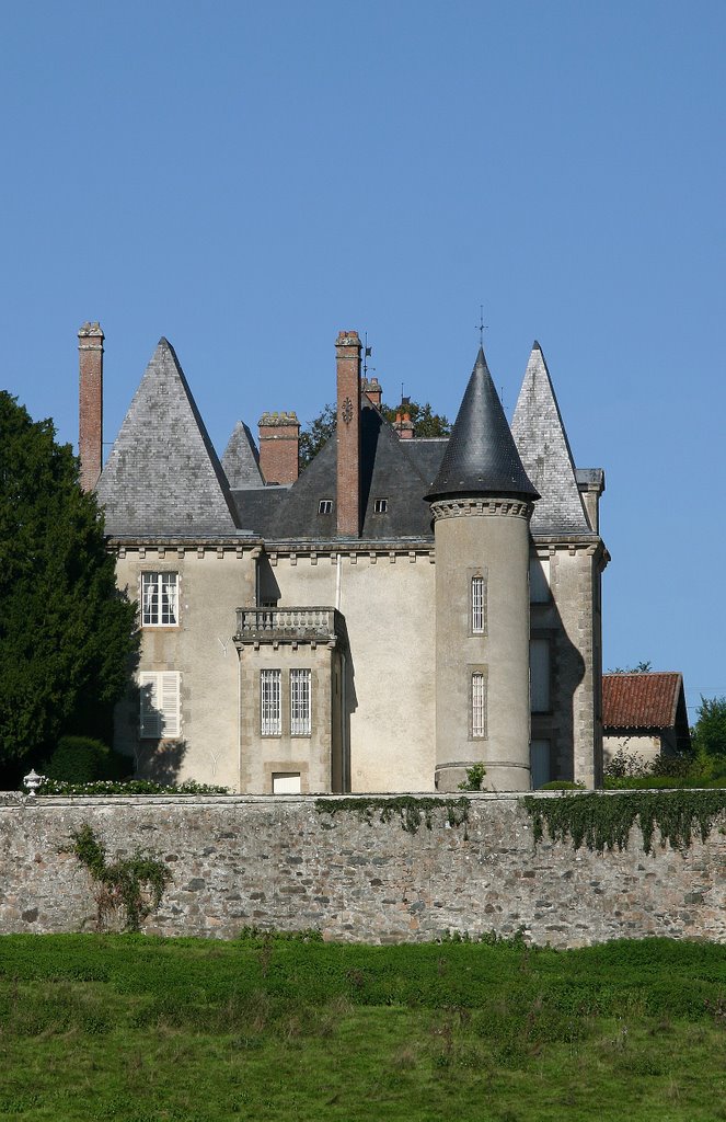
<path fill-rule="evenodd" d="M 527 475 L 542 496 L 532 515 L 532 532 L 590 533 L 560 408 L 537 342 L 527 362 L 512 433 Z"/>

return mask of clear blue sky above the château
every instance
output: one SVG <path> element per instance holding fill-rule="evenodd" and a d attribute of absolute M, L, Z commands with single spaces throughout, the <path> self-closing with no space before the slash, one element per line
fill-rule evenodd
<path fill-rule="evenodd" d="M 726 693 L 726 6 L 697 0 L 3 4 L 3 387 L 111 441 L 159 335 L 221 453 L 307 421 L 339 329 L 451 419 L 478 346 L 511 414 L 542 344 L 604 467 L 606 666 Z M 718 594 L 718 595 L 717 595 Z"/>

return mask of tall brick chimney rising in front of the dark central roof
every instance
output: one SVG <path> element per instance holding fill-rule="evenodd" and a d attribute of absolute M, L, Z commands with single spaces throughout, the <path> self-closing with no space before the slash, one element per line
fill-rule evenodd
<path fill-rule="evenodd" d="M 338 367 L 338 534 L 360 534 L 360 339 L 341 331 L 336 340 Z"/>

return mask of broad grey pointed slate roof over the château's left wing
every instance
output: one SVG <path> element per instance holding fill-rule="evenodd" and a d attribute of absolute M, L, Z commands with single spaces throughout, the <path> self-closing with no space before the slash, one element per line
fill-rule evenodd
<path fill-rule="evenodd" d="M 166 339 L 146 368 L 97 491 L 111 536 L 236 532 L 224 472 Z"/>

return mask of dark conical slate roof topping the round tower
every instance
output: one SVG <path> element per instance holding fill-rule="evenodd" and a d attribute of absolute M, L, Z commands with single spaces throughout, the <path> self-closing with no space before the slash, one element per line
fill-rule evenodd
<path fill-rule="evenodd" d="M 481 347 L 426 497 L 447 495 L 539 498 L 522 466 Z"/>

